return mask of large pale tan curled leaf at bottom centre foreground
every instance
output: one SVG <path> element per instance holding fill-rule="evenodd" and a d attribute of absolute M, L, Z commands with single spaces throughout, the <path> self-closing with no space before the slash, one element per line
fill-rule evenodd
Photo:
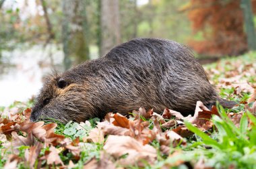
<path fill-rule="evenodd" d="M 129 136 L 109 135 L 103 148 L 115 158 L 127 154 L 126 158 L 119 160 L 121 165 L 143 166 L 143 160 L 149 164 L 154 164 L 156 160 L 155 148 L 148 144 L 143 146 L 141 142 Z"/>

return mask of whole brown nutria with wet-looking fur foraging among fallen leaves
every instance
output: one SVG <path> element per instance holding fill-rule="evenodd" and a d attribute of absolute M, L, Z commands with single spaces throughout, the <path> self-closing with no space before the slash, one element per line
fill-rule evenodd
<path fill-rule="evenodd" d="M 85 121 L 108 112 L 127 114 L 145 107 L 156 113 L 168 107 L 188 115 L 197 101 L 218 99 L 192 52 L 170 40 L 139 38 L 121 44 L 102 58 L 51 76 L 40 91 L 30 119 Z"/>

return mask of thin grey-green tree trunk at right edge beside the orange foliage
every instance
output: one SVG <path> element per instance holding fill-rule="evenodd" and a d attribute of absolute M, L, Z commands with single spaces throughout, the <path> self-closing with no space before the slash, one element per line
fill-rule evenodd
<path fill-rule="evenodd" d="M 249 50 L 256 50 L 256 32 L 253 23 L 251 0 L 241 0 L 241 8 L 243 9 L 248 48 Z"/>

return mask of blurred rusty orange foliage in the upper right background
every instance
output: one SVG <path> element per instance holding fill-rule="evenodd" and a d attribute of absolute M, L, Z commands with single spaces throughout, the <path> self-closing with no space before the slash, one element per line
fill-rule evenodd
<path fill-rule="evenodd" d="M 199 54 L 238 55 L 247 50 L 240 0 L 191 0 L 189 19 L 193 31 L 203 33 L 203 41 L 189 43 Z M 252 0 L 256 12 L 256 0 Z"/>

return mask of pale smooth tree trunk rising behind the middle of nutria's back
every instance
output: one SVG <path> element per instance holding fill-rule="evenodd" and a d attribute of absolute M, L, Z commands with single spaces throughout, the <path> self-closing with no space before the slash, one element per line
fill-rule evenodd
<path fill-rule="evenodd" d="M 121 43 L 119 22 L 119 0 L 101 0 L 101 44 L 100 56 Z"/>

